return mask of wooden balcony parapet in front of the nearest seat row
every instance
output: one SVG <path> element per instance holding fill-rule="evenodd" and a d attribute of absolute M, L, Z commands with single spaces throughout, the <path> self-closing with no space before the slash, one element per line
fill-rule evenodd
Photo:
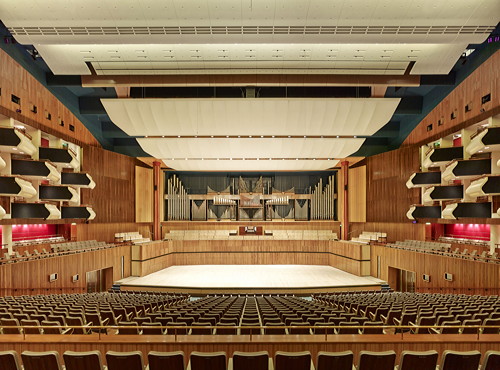
<path fill-rule="evenodd" d="M 354 352 L 354 363 L 358 364 L 360 351 L 396 352 L 396 363 L 402 351 L 436 350 L 439 355 L 445 350 L 478 350 L 483 355 L 488 350 L 500 350 L 498 335 L 452 335 L 420 334 L 411 335 L 67 335 L 64 341 L 57 335 L 2 335 L 0 351 L 91 351 L 99 350 L 105 363 L 107 351 L 141 351 L 145 364 L 149 351 L 183 351 L 186 361 L 192 351 L 224 351 L 231 357 L 234 351 L 268 351 L 274 357 L 276 351 L 310 351 L 313 361 L 319 351 Z M 438 361 L 439 363 L 439 361 Z"/>

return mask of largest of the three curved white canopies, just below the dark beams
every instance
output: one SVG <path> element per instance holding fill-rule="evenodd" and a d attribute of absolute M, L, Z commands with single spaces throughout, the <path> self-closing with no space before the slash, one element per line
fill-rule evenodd
<path fill-rule="evenodd" d="M 369 136 L 399 98 L 101 99 L 130 136 Z"/>

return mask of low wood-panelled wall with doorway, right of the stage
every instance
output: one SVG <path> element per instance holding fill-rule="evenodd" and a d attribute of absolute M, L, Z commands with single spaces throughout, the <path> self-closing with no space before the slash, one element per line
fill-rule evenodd
<path fill-rule="evenodd" d="M 495 263 L 372 245 L 374 272 L 377 271 L 377 257 L 381 262 L 381 279 L 389 279 L 389 267 L 413 271 L 416 273 L 415 289 L 419 292 L 500 294 L 500 268 Z M 453 281 L 444 280 L 445 272 L 453 274 Z M 429 283 L 423 281 L 423 274 L 430 275 Z"/>

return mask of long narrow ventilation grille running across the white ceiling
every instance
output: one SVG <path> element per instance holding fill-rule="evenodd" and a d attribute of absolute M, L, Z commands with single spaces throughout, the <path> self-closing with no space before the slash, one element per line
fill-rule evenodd
<path fill-rule="evenodd" d="M 490 34 L 495 26 L 11 27 L 13 36 L 96 35 L 444 35 Z"/>

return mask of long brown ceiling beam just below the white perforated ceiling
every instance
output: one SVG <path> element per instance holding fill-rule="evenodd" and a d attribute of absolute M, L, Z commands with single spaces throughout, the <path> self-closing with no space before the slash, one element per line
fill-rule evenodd
<path fill-rule="evenodd" d="M 85 75 L 83 87 L 152 86 L 420 86 L 419 75 L 234 74 Z"/>

